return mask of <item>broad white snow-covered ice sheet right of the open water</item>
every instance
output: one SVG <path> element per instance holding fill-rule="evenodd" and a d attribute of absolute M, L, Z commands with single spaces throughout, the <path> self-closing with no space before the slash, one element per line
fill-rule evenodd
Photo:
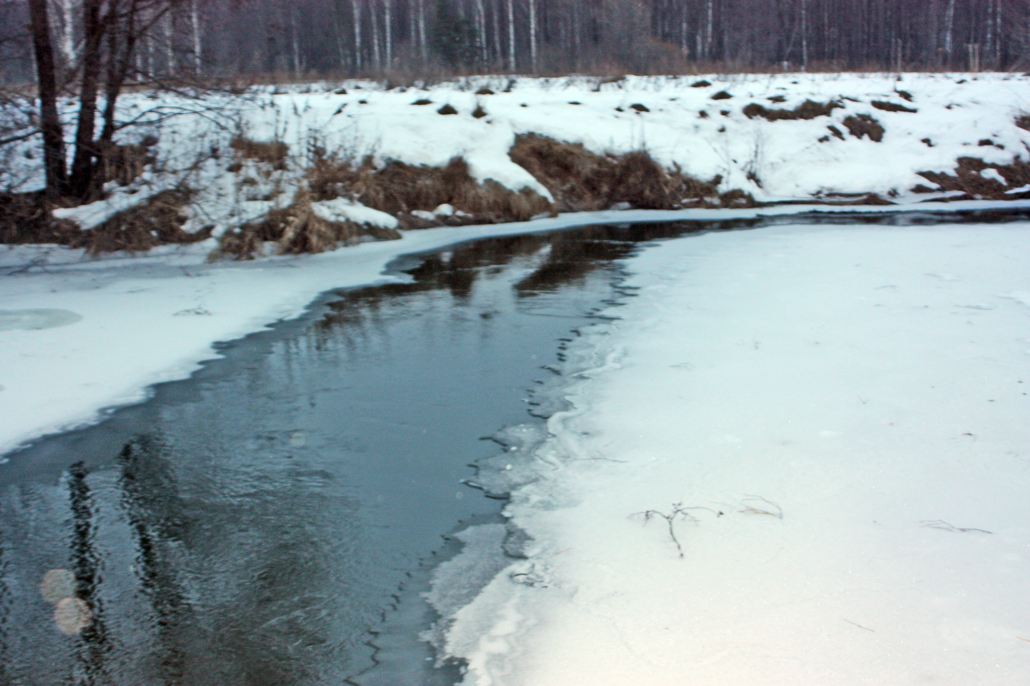
<path fill-rule="evenodd" d="M 785 226 L 629 260 L 507 506 L 528 559 L 447 616 L 462 683 L 1030 683 L 1028 255 Z"/>

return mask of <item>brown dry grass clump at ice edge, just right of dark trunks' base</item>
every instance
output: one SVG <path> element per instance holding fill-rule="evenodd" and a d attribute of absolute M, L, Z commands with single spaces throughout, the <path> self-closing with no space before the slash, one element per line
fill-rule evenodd
<path fill-rule="evenodd" d="M 84 247 L 89 254 L 96 255 L 116 250 L 143 252 L 168 243 L 197 243 L 209 238 L 211 229 L 194 234 L 182 230 L 187 218 L 182 208 L 188 202 L 187 191 L 162 191 L 89 231 L 77 232 L 67 244 Z"/>

